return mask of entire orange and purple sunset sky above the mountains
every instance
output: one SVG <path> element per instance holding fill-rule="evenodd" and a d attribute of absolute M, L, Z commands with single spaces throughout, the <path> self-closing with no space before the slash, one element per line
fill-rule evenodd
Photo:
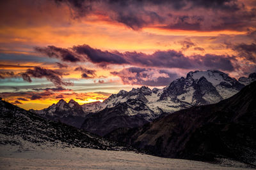
<path fill-rule="evenodd" d="M 27 110 L 208 69 L 256 71 L 255 0 L 0 1 L 0 96 Z"/>

